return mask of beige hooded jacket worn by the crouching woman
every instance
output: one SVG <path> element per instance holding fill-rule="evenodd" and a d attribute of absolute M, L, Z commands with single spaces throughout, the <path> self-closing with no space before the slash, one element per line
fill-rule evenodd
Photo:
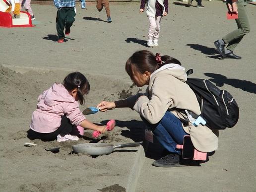
<path fill-rule="evenodd" d="M 128 98 L 129 106 L 144 117 L 150 124 L 158 123 L 170 111 L 181 120 L 184 114 L 174 108 L 187 109 L 199 115 L 200 108 L 192 89 L 185 83 L 185 68 L 178 64 L 165 64 L 150 76 L 146 93 L 138 93 Z M 218 130 L 199 125 L 194 127 L 183 124 L 190 134 L 194 147 L 202 152 L 211 152 L 218 148 Z"/>

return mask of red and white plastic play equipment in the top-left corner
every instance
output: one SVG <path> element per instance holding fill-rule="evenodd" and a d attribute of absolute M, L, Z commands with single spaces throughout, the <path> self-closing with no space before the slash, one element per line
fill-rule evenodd
<path fill-rule="evenodd" d="M 10 13 L 5 12 L 8 7 L 6 0 L 0 0 L 0 27 L 33 27 L 28 12 L 20 11 L 19 18 L 12 18 Z"/>

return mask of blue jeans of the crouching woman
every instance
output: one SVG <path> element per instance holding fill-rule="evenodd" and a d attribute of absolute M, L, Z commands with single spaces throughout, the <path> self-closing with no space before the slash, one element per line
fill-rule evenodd
<path fill-rule="evenodd" d="M 176 150 L 176 145 L 183 144 L 183 137 L 188 133 L 184 131 L 180 119 L 167 111 L 157 124 L 149 124 L 144 118 L 142 120 L 165 149 L 172 153 L 181 154 L 181 151 Z"/>

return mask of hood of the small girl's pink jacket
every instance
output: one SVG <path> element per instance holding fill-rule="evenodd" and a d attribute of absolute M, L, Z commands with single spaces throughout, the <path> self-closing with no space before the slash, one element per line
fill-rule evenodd
<path fill-rule="evenodd" d="M 44 98 L 44 103 L 48 106 L 55 106 L 63 102 L 75 102 L 75 99 L 68 93 L 63 84 L 57 83 L 54 83 L 51 88 L 46 90 L 42 97 Z"/>

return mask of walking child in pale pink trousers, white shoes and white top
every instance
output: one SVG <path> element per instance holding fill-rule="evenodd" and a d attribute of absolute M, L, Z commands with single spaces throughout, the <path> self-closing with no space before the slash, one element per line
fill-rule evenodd
<path fill-rule="evenodd" d="M 168 0 L 141 0 L 139 12 L 145 10 L 149 20 L 147 46 L 158 46 L 158 38 L 160 33 L 160 22 L 162 16 L 168 13 Z"/>

